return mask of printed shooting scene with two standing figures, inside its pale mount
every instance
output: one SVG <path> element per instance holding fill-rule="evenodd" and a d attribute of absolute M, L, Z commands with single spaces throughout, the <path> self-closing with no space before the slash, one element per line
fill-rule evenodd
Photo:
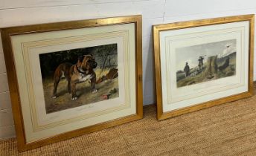
<path fill-rule="evenodd" d="M 235 39 L 176 49 L 177 88 L 234 76 L 236 51 Z"/>

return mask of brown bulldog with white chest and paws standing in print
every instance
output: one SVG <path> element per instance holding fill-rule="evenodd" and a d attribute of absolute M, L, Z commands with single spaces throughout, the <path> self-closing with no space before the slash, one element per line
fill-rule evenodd
<path fill-rule="evenodd" d="M 97 62 L 92 55 L 80 56 L 77 64 L 62 63 L 54 71 L 54 92 L 52 98 L 57 98 L 57 87 L 62 77 L 68 81 L 68 93 L 72 95 L 71 100 L 77 100 L 76 84 L 80 82 L 91 82 L 92 94 L 97 92 L 95 88 L 96 74 L 93 71 L 97 67 Z"/>

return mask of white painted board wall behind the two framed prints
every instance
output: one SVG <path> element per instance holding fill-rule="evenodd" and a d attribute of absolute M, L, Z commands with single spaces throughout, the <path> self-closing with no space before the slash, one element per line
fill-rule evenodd
<path fill-rule="evenodd" d="M 0 27 L 142 14 L 144 105 L 147 105 L 155 102 L 152 25 L 255 12 L 255 0 L 0 0 Z M 10 95 L 0 43 L 0 139 L 13 136 Z"/>

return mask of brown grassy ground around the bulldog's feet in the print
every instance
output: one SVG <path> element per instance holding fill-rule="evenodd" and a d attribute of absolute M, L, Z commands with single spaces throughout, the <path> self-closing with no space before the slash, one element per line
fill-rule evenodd
<path fill-rule="evenodd" d="M 107 70 L 100 71 L 96 70 L 96 74 L 106 74 Z M 118 97 L 118 78 L 109 79 L 104 82 L 96 84 L 98 89 L 97 93 L 92 94 L 90 83 L 83 82 L 77 85 L 77 100 L 71 100 L 71 94 L 66 90 L 68 82 L 65 79 L 60 81 L 58 87 L 58 97 L 53 99 L 52 90 L 54 88 L 52 79 L 45 79 L 44 92 L 45 92 L 45 108 L 48 113 L 65 110 L 68 108 L 74 108 L 89 103 L 97 103 L 100 100 L 108 100 Z"/>

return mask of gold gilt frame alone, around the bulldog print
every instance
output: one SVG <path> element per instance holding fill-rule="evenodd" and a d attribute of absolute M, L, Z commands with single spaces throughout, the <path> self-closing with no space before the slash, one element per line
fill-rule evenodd
<path fill-rule="evenodd" d="M 19 36 L 23 34 L 32 34 L 32 33 L 45 33 L 52 32 L 57 30 L 74 30 L 87 27 L 101 27 L 101 26 L 111 26 L 111 25 L 124 25 L 124 24 L 134 24 L 135 27 L 135 101 L 132 103 L 135 105 L 135 114 L 129 116 L 124 116 L 117 118 L 115 120 L 109 120 L 103 123 L 97 123 L 92 126 L 87 126 L 82 129 L 75 129 L 73 131 L 68 131 L 63 134 L 57 134 L 55 136 L 49 136 L 43 138 L 42 140 L 35 140 L 33 142 L 27 142 L 25 137 L 25 124 L 22 114 L 22 103 L 20 100 L 19 93 L 19 84 L 17 79 L 16 65 L 14 62 L 13 56 L 13 45 L 11 42 L 11 36 Z M 1 39 L 3 42 L 4 48 L 4 59 L 6 60 L 7 68 L 7 78 L 10 88 L 10 97 L 13 108 L 13 117 L 16 126 L 16 137 L 18 141 L 18 150 L 19 152 L 34 149 L 39 146 L 44 146 L 49 143 L 55 143 L 60 140 L 66 140 L 71 137 L 77 137 L 83 134 L 88 134 L 93 131 L 99 131 L 101 129 L 106 129 L 112 126 L 118 126 L 123 123 L 128 123 L 134 120 L 139 120 L 143 117 L 143 97 L 142 97 L 142 53 L 141 53 L 141 16 L 121 16 L 105 19 L 89 19 L 81 21 L 72 21 L 72 22 L 57 22 L 50 24 L 42 25 L 29 25 L 29 26 L 20 26 L 20 27 L 7 27 L 1 28 Z"/>

